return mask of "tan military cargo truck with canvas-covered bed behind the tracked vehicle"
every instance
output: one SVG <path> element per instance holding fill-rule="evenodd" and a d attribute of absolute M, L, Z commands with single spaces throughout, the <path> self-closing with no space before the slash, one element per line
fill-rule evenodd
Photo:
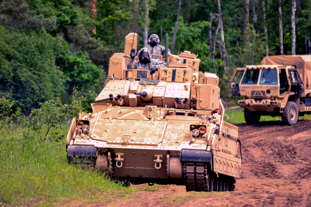
<path fill-rule="evenodd" d="M 311 55 L 270 56 L 261 65 L 237 68 L 230 91 L 244 98 L 238 103 L 248 124 L 268 115 L 294 125 L 298 116 L 311 114 Z"/>

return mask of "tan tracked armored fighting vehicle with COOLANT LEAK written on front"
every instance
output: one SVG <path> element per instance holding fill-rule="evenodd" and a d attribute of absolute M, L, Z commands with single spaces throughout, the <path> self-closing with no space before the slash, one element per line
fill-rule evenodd
<path fill-rule="evenodd" d="M 125 42 L 124 53 L 110 58 L 92 113 L 72 120 L 68 161 L 95 167 L 125 185 L 234 191 L 241 174 L 240 140 L 238 127 L 223 121 L 219 78 L 199 72 L 201 60 L 187 51 L 170 54 L 168 66 L 152 75 L 128 70 L 137 34 L 128 34 Z"/>

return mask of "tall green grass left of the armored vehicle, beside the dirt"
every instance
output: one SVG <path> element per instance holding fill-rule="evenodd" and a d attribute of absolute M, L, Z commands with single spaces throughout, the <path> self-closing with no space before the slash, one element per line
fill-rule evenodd
<path fill-rule="evenodd" d="M 64 127 L 63 133 L 67 133 Z M 36 198 L 46 206 L 66 198 L 96 199 L 95 192 L 130 194 L 95 169 L 67 163 L 66 140 L 41 142 L 35 132 L 0 127 L 0 204 L 18 205 Z M 31 204 L 30 204 L 31 205 Z"/>

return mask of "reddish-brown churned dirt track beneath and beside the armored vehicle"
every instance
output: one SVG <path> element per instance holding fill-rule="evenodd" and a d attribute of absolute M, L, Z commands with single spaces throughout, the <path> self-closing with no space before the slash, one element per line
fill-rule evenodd
<path fill-rule="evenodd" d="M 242 173 L 233 192 L 186 192 L 160 186 L 130 198 L 73 202 L 71 206 L 309 206 L 311 207 L 311 121 L 236 124 L 242 143 Z M 145 185 L 132 188 L 146 189 Z"/>

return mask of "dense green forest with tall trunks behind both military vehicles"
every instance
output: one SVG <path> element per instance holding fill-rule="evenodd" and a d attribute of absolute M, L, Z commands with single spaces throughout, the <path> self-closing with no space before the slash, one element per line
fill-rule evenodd
<path fill-rule="evenodd" d="M 70 103 L 77 87 L 88 110 L 128 33 L 137 32 L 137 49 L 154 33 L 164 44 L 167 33 L 170 49 L 179 2 L 174 54 L 197 54 L 226 102 L 235 67 L 311 53 L 311 0 L 2 0 L 0 97 L 27 115 L 53 97 Z"/>

